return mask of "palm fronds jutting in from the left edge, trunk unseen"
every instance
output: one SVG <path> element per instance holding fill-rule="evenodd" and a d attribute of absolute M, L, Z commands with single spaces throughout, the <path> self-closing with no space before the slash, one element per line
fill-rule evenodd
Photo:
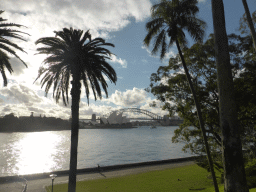
<path fill-rule="evenodd" d="M 0 10 L 0 14 L 2 14 L 3 12 L 4 11 Z M 5 23 L 4 21 L 6 20 L 7 19 L 3 19 L 2 17 L 0 17 L 0 72 L 3 77 L 4 86 L 7 86 L 7 77 L 5 74 L 5 69 L 7 69 L 10 73 L 13 72 L 11 63 L 9 61 L 10 57 L 8 57 L 7 53 L 18 58 L 27 67 L 26 63 L 16 54 L 16 52 L 12 48 L 18 49 L 22 52 L 25 52 L 25 51 L 21 47 L 19 47 L 17 44 L 11 42 L 9 38 L 15 38 L 15 39 L 20 39 L 22 41 L 26 41 L 25 39 L 23 39 L 20 33 L 29 35 L 27 33 L 8 28 L 8 27 L 22 27 L 22 25 L 15 24 L 15 23 Z"/>

